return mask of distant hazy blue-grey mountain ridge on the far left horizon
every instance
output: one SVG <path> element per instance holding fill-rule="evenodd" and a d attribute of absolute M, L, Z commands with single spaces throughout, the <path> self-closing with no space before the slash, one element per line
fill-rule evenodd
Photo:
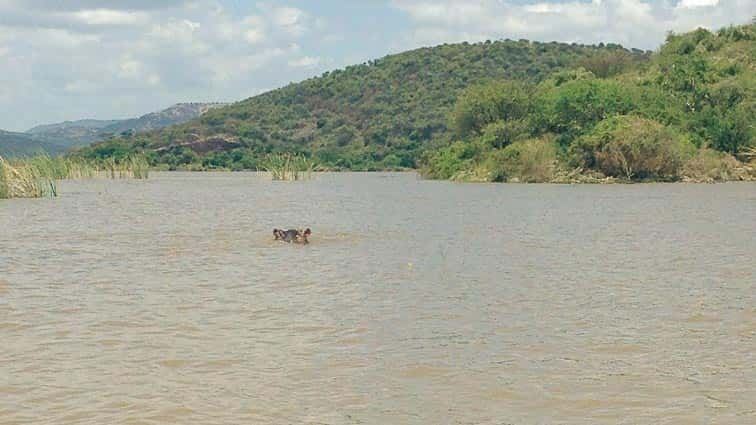
<path fill-rule="evenodd" d="M 139 118 L 65 121 L 38 125 L 27 130 L 26 133 L 15 134 L 27 134 L 33 136 L 34 140 L 67 150 L 75 146 L 88 145 L 110 136 L 118 136 L 125 132 L 141 133 L 182 124 L 201 116 L 210 109 L 225 105 L 225 103 L 179 103 L 160 112 L 152 112 Z"/>

